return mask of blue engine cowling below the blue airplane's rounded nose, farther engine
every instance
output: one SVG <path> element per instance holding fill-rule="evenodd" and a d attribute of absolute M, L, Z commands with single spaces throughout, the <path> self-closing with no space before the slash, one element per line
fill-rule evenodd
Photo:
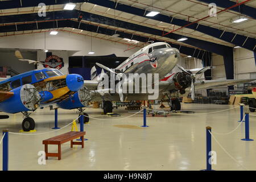
<path fill-rule="evenodd" d="M 61 109 L 76 109 L 79 107 L 85 107 L 91 100 L 90 92 L 85 87 L 82 87 L 78 92 L 73 94 L 73 96 L 68 97 L 64 101 L 57 104 L 57 107 Z"/>

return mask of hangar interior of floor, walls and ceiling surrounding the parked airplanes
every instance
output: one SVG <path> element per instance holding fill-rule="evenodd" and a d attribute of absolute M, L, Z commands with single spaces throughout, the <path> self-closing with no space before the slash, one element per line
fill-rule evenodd
<path fill-rule="evenodd" d="M 74 9 L 64 9 L 67 3 L 75 5 Z M 89 102 L 83 108 L 90 118 L 84 125 L 85 147 L 70 148 L 64 143 L 61 160 L 49 158 L 46 165 L 38 164 L 38 152 L 45 149 L 42 140 L 71 131 L 71 122 L 79 117 L 77 110 L 58 109 L 61 129 L 55 131 L 55 110 L 48 106 L 36 109 L 31 114 L 35 133 L 20 132 L 24 114 L 7 113 L 9 119 L 0 121 L 0 129 L 10 131 L 9 170 L 197 171 L 207 163 L 206 126 L 212 127 L 212 150 L 217 156 L 213 169 L 255 170 L 255 141 L 241 140 L 247 127 L 245 122 L 237 122 L 250 113 L 250 138 L 256 139 L 256 94 L 252 91 L 256 88 L 255 9 L 254 0 L 0 1 L 2 80 L 46 68 L 19 61 L 17 50 L 24 59 L 40 63 L 57 56 L 60 64 L 54 68 L 90 80 L 96 63 L 117 68 L 152 42 L 177 49 L 181 57 L 177 64 L 186 70 L 212 68 L 196 81 L 250 80 L 196 90 L 195 100 L 190 92 L 180 95 L 181 110 L 187 113 L 164 115 L 161 100 L 138 99 L 139 110 L 130 110 L 127 101 L 113 102 L 113 113 L 119 114 L 114 117 L 102 114 L 103 102 Z M 148 16 L 152 12 L 156 15 Z M 100 74 L 102 68 L 96 68 Z M 168 74 L 177 72 L 180 68 L 174 67 Z M 149 105 L 149 127 L 141 127 L 143 108 Z M 163 105 L 168 108 L 168 101 Z M 79 126 L 77 123 L 78 130 Z M 4 150 L 2 145 L 0 148 Z M 57 151 L 56 146 L 49 146 L 49 151 Z"/>

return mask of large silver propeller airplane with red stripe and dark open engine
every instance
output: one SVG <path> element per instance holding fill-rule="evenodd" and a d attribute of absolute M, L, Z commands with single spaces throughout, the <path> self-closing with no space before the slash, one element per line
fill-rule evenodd
<path fill-rule="evenodd" d="M 140 75 L 141 73 L 145 73 L 146 75 L 147 73 L 152 73 L 152 80 L 154 80 L 154 73 L 158 73 L 159 92 L 158 98 L 156 98 L 155 100 L 163 100 L 167 97 L 167 99 L 170 100 L 169 103 L 171 110 L 181 109 L 179 95 L 187 96 L 189 92 L 191 92 L 192 100 L 194 100 L 196 90 L 210 89 L 216 86 L 230 86 L 242 82 L 253 81 L 251 79 L 199 81 L 197 80 L 197 75 L 201 75 L 201 73 L 204 73 L 212 67 L 186 70 L 177 64 L 181 59 L 182 57 L 180 56 L 180 52 L 178 49 L 172 48 L 168 43 L 159 42 L 152 43 L 135 52 L 115 69 L 110 69 L 99 63 L 96 63 L 96 65 L 98 65 L 98 67 L 101 67 L 102 69 L 105 69 L 108 73 L 113 73 L 114 75 L 124 74 L 126 75 L 126 77 L 129 77 L 129 73 L 138 73 L 138 75 Z M 175 66 L 178 67 L 181 71 L 177 73 L 172 73 L 171 75 L 167 76 L 168 73 L 171 73 L 172 69 Z M 104 110 L 104 113 L 112 113 L 112 101 L 148 100 L 148 96 L 152 95 L 152 93 L 148 92 L 123 93 L 123 88 L 127 88 L 130 82 L 134 82 L 134 79 L 131 80 L 127 78 L 127 80 L 122 82 L 122 85 L 117 86 L 118 92 L 115 93 L 110 92 L 109 88 L 98 89 L 100 82 L 100 75 L 97 76 L 96 68 L 93 67 L 91 71 L 91 80 L 84 81 L 84 90 L 98 90 L 97 93 L 90 92 L 89 98 L 90 101 L 102 102 L 102 109 Z M 117 82 L 115 82 L 115 85 L 117 85 Z M 152 85 L 154 85 L 153 82 Z M 133 84 L 133 87 L 134 86 L 135 84 Z M 142 85 L 139 85 L 139 88 L 142 89 Z M 100 90 L 102 91 L 100 92 Z M 88 98 L 87 95 L 81 97 Z"/>

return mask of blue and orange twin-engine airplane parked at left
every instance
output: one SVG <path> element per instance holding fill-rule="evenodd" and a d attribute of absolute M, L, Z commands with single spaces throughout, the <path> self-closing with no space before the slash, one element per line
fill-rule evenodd
<path fill-rule="evenodd" d="M 28 71 L 0 82 L 0 111 L 23 113 L 22 129 L 34 130 L 35 121 L 28 111 L 53 104 L 65 109 L 84 107 L 78 94 L 83 85 L 84 79 L 77 74 L 63 75 L 57 69 L 48 68 Z M 72 105 L 61 103 L 67 98 Z"/>

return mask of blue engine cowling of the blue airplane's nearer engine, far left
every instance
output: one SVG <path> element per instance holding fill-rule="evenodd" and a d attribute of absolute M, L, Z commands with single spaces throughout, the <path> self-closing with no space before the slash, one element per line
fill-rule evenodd
<path fill-rule="evenodd" d="M 36 110 L 40 101 L 39 92 L 35 86 L 26 84 L 11 90 L 14 95 L 1 102 L 0 110 L 5 113 L 19 113 L 22 111 Z"/>

